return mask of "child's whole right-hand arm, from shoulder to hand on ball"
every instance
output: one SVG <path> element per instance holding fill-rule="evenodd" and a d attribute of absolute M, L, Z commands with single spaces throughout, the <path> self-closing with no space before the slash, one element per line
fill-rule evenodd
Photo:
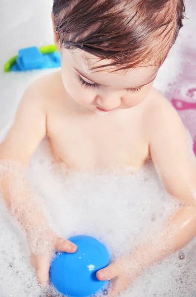
<path fill-rule="evenodd" d="M 100 280 L 118 277 L 112 297 L 124 290 L 144 268 L 181 249 L 196 237 L 196 159 L 188 135 L 168 102 L 162 108 L 152 110 L 148 119 L 150 152 L 157 172 L 167 191 L 179 198 L 182 206 L 168 218 L 158 234 L 129 257 L 98 272 Z"/>

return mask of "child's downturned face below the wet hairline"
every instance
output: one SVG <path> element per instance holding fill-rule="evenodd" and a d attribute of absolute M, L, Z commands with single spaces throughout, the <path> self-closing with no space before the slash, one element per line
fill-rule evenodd
<path fill-rule="evenodd" d="M 144 101 L 153 86 L 157 67 L 138 67 L 127 72 L 110 72 L 93 66 L 108 64 L 82 50 L 62 49 L 62 80 L 67 93 L 87 110 L 107 114 Z M 96 62 L 96 63 L 95 63 Z"/>

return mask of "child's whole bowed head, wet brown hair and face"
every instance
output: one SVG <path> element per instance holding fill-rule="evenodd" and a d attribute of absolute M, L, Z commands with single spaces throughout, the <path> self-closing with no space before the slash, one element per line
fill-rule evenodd
<path fill-rule="evenodd" d="M 55 43 L 69 95 L 95 111 L 142 102 L 184 11 L 184 0 L 54 0 Z"/>

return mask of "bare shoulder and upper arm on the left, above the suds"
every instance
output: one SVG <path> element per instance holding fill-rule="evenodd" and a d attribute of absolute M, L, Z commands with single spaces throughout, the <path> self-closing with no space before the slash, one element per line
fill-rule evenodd
<path fill-rule="evenodd" d="M 25 91 L 13 124 L 0 145 L 0 158 L 28 165 L 47 132 L 47 104 L 58 88 L 55 83 L 57 74 L 54 73 L 35 80 Z"/>

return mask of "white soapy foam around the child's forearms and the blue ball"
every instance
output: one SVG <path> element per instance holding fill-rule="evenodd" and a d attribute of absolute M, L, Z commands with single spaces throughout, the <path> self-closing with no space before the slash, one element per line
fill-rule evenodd
<path fill-rule="evenodd" d="M 158 235 L 163 221 L 179 209 L 151 162 L 135 173 L 68 172 L 55 164 L 47 139 L 32 159 L 29 176 L 53 230 L 65 238 L 94 236 L 115 258 L 129 253 L 149 235 Z M 196 277 L 195 245 L 193 241 L 148 269 L 120 296 L 192 296 L 196 292 L 196 285 L 191 285 Z M 51 295 L 51 288 L 39 287 L 23 232 L 2 201 L 0 255 L 1 297 L 58 296 Z"/>

